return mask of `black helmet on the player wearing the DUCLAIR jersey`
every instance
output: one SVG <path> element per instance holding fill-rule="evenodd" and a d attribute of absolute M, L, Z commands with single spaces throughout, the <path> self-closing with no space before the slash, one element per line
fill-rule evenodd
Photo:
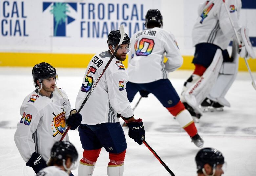
<path fill-rule="evenodd" d="M 145 26 L 147 27 L 148 23 L 158 23 L 160 27 L 163 26 L 163 16 L 158 9 L 149 9 L 146 14 Z"/>

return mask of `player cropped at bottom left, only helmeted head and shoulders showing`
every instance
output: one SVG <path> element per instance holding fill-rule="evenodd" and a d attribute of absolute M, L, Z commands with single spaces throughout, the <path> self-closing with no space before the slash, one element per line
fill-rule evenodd
<path fill-rule="evenodd" d="M 36 176 L 69 176 L 71 169 L 75 169 L 78 153 L 70 142 L 55 142 L 50 156 L 48 167 Z"/>

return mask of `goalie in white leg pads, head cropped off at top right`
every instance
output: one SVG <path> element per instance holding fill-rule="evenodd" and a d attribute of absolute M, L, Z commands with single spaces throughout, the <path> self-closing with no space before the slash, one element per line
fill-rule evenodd
<path fill-rule="evenodd" d="M 244 46 L 246 43 L 250 45 L 250 42 L 246 39 L 245 27 L 241 28 L 238 23 L 241 0 L 228 0 L 225 3 L 228 12 L 223 1 L 208 0 L 200 5 L 192 31 L 195 70 L 184 83 L 181 101 L 191 115 L 197 118 L 202 115 L 200 104 L 220 110 L 223 106 L 230 106 L 224 96 L 237 75 L 238 52 L 241 57 L 254 55 L 248 52 L 248 46 Z M 238 51 L 238 41 L 233 41 L 231 58 L 227 47 L 235 33 L 228 13 L 243 44 L 241 51 Z"/>

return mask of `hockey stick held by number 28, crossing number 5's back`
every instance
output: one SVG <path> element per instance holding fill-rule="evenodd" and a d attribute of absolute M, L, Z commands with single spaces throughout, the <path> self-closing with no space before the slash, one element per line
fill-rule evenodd
<path fill-rule="evenodd" d="M 120 37 L 120 42 L 117 46 L 117 49 L 115 50 L 114 54 L 111 56 L 111 58 L 109 59 L 109 61 L 107 62 L 106 66 L 103 68 L 102 72 L 100 73 L 98 79 L 96 80 L 94 86 L 92 87 L 92 89 L 89 91 L 89 93 L 87 94 L 86 98 L 84 99 L 82 105 L 80 106 L 80 108 L 78 109 L 77 113 L 79 113 L 82 108 L 84 107 L 85 103 L 87 102 L 88 98 L 90 97 L 90 95 L 92 94 L 94 88 L 96 87 L 96 85 L 98 84 L 100 78 L 102 77 L 102 75 L 104 74 L 104 72 L 106 71 L 106 69 L 108 68 L 109 64 L 111 63 L 111 61 L 113 60 L 114 56 L 116 55 L 117 53 L 117 50 L 119 49 L 119 47 L 121 46 L 121 44 L 123 43 L 123 39 L 124 39 L 124 27 L 123 25 L 120 25 L 119 27 L 119 30 L 120 30 L 120 34 L 121 34 L 121 37 Z M 70 129 L 70 126 L 67 127 L 66 131 L 64 132 L 62 138 L 60 139 L 60 141 L 62 141 L 64 139 L 64 137 L 66 136 L 68 130 Z"/>

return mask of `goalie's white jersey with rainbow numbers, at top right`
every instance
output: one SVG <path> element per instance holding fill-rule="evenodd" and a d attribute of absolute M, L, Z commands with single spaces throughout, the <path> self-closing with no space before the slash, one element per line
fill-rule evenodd
<path fill-rule="evenodd" d="M 241 0 L 226 0 L 226 5 L 234 27 L 238 31 L 241 28 L 238 23 Z M 212 43 L 223 50 L 227 49 L 235 33 L 223 1 L 206 1 L 199 6 L 198 15 L 192 30 L 193 46 L 199 43 Z"/>

